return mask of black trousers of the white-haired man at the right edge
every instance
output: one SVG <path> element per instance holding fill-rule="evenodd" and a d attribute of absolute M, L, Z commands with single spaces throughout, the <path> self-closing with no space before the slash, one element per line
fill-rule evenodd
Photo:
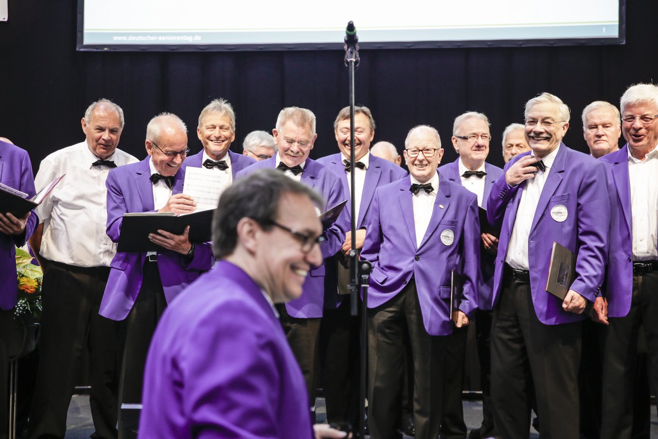
<path fill-rule="evenodd" d="M 635 411 L 637 346 L 644 327 L 649 352 L 649 376 L 658 389 L 658 272 L 633 276 L 630 311 L 609 319 L 603 350 L 603 425 L 601 438 L 631 438 Z"/>

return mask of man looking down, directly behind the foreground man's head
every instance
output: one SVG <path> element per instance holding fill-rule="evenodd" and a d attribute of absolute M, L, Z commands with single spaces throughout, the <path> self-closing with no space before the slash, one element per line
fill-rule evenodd
<path fill-rule="evenodd" d="M 276 168 L 293 180 L 307 184 L 319 192 L 325 202 L 321 206 L 322 209 L 328 209 L 345 200 L 347 195 L 338 175 L 309 158 L 318 136 L 315 132 L 315 115 L 311 110 L 298 107 L 282 109 L 272 134 L 278 149 L 276 155 L 241 170 L 238 178 L 258 169 Z M 340 228 L 340 222 L 324 231 L 324 240 L 320 247 L 322 257 L 333 256 L 340 250 L 345 242 L 345 231 Z M 304 294 L 299 299 L 277 307 L 288 342 L 304 374 L 309 389 L 311 411 L 314 413 L 318 334 L 324 305 L 324 270 L 324 263 L 311 269 L 304 283 Z"/>

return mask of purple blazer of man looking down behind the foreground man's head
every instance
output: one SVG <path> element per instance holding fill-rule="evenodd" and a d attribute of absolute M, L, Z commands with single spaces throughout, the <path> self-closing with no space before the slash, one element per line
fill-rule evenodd
<path fill-rule="evenodd" d="M 258 169 L 273 169 L 276 165 L 276 155 L 267 160 L 259 161 L 238 172 L 238 178 L 245 177 Z M 314 188 L 324 198 L 325 208 L 333 207 L 347 198 L 343 192 L 340 178 L 329 168 L 320 165 L 315 160 L 306 159 L 304 172 L 301 173 L 302 183 Z M 345 230 L 336 222 L 324 231 L 324 242 L 320 246 L 325 259 L 336 254 L 345 242 Z M 297 319 L 315 319 L 322 317 L 324 306 L 324 274 L 325 264 L 312 269 L 307 276 L 299 299 L 286 303 L 286 311 Z"/>

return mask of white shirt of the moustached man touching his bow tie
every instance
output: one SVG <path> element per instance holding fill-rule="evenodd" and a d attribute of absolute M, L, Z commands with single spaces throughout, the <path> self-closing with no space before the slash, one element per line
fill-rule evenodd
<path fill-rule="evenodd" d="M 529 270 L 530 263 L 528 262 L 528 238 L 530 238 L 530 228 L 532 228 L 532 220 L 534 219 L 535 211 L 539 203 L 539 198 L 542 195 L 544 184 L 548 178 L 549 172 L 553 167 L 555 156 L 560 147 L 555 148 L 555 151 L 542 159 L 546 169 L 538 170 L 533 178 L 526 180 L 526 186 L 523 188 L 521 199 L 519 201 L 519 208 L 517 209 L 517 217 L 514 220 L 512 234 L 509 237 L 509 247 L 507 247 L 507 255 L 505 262 L 517 270 Z M 534 157 L 534 152 L 530 153 Z"/>

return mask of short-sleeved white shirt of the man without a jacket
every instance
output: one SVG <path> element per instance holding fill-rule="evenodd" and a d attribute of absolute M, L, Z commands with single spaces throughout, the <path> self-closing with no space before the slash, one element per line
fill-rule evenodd
<path fill-rule="evenodd" d="M 77 267 L 109 267 L 116 252 L 107 236 L 106 166 L 91 166 L 99 158 L 87 142 L 77 143 L 48 155 L 34 178 L 37 191 L 66 174 L 53 192 L 36 208 L 43 222 L 41 255 Z M 107 160 L 117 166 L 138 159 L 116 149 Z"/>

